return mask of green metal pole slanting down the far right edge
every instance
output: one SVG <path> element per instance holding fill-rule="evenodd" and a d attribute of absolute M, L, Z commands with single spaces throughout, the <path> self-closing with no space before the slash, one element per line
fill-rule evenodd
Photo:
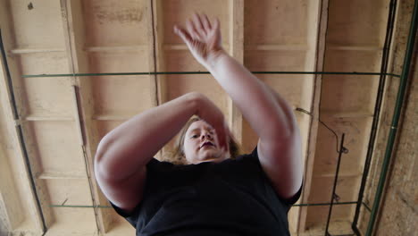
<path fill-rule="evenodd" d="M 376 221 L 376 216 L 377 216 L 379 206 L 380 206 L 381 193 L 383 192 L 383 188 L 385 185 L 386 175 L 388 174 L 388 169 L 389 169 L 389 164 L 390 164 L 390 157 L 392 156 L 392 149 L 395 144 L 395 138 L 397 135 L 397 123 L 399 122 L 399 116 L 401 113 L 402 105 L 404 103 L 406 80 L 408 79 L 411 59 L 414 54 L 414 42 L 415 42 L 416 27 L 417 27 L 417 20 L 418 20 L 417 1 L 418 0 L 415 0 L 415 3 L 414 3 L 414 12 L 413 12 L 412 20 L 411 20 L 411 28 L 409 30 L 408 42 L 407 42 L 406 50 L 405 50 L 404 67 L 402 68 L 401 79 L 399 82 L 399 89 L 397 90 L 397 103 L 395 105 L 395 111 L 393 113 L 392 124 L 391 124 L 390 131 L 389 131 L 388 145 L 386 146 L 385 157 L 383 159 L 383 164 L 381 167 L 378 189 L 376 190 L 376 195 L 374 197 L 372 213 L 371 213 L 372 215 L 370 216 L 369 224 L 367 226 L 367 232 L 366 232 L 367 236 L 372 235 L 374 222 Z"/>

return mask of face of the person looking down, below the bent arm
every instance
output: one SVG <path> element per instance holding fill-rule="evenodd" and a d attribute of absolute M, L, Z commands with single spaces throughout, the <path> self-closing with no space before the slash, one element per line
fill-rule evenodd
<path fill-rule="evenodd" d="M 183 150 L 189 164 L 222 162 L 229 157 L 228 152 L 220 149 L 212 126 L 204 121 L 190 124 L 184 137 Z"/>

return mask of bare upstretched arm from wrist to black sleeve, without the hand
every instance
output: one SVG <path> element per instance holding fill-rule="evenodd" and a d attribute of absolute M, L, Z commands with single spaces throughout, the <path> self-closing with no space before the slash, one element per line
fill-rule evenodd
<path fill-rule="evenodd" d="M 291 198 L 302 183 L 302 144 L 288 103 L 235 59 L 221 51 L 208 69 L 260 137 L 263 170 L 282 198 Z"/>

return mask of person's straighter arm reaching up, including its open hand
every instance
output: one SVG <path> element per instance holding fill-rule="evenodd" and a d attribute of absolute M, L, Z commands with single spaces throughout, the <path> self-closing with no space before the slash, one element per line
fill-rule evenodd
<path fill-rule="evenodd" d="M 213 74 L 260 137 L 258 156 L 263 171 L 282 198 L 291 198 L 302 183 L 302 145 L 297 121 L 288 103 L 258 80 L 221 46 L 219 21 L 195 14 L 187 30 L 174 31 L 199 63 Z"/>

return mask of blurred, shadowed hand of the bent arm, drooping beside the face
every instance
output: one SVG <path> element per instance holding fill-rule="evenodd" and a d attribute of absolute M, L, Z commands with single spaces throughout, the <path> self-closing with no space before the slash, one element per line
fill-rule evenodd
<path fill-rule="evenodd" d="M 216 131 L 216 136 L 218 137 L 218 142 L 222 150 L 229 151 L 230 129 L 221 109 L 201 93 L 195 92 L 194 96 L 196 96 L 197 101 L 196 115 L 205 120 L 205 122 L 208 122 L 214 131 Z"/>

